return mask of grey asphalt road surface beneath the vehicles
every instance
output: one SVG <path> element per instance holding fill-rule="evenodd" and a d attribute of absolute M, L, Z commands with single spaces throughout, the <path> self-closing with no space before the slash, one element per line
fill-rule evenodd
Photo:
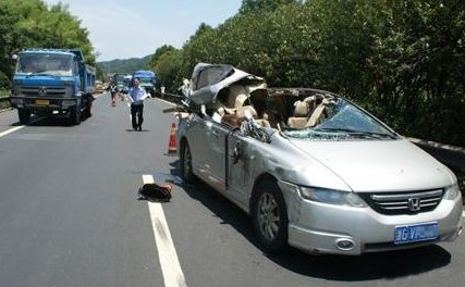
<path fill-rule="evenodd" d="M 168 107 L 147 100 L 143 132 L 107 93 L 79 126 L 0 113 L 1 287 L 463 285 L 465 236 L 359 258 L 262 253 L 241 210 L 179 179 Z M 136 199 L 151 180 L 173 184 L 170 202 Z"/>

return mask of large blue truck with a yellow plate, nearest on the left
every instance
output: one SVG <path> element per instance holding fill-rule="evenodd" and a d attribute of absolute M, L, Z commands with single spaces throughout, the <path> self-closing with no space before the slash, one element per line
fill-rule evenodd
<path fill-rule="evenodd" d="M 78 125 L 91 115 L 96 72 L 81 50 L 26 49 L 16 60 L 11 103 L 21 124 L 32 115 L 57 115 Z"/>

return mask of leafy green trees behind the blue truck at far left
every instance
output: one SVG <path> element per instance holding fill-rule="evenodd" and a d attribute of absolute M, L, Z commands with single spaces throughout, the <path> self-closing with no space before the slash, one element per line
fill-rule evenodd
<path fill-rule="evenodd" d="M 95 65 L 94 48 L 81 21 L 61 3 L 48 8 L 41 0 L 0 2 L 0 85 L 10 85 L 11 55 L 25 48 L 78 48 Z M 5 84 L 7 83 L 7 84 Z"/>

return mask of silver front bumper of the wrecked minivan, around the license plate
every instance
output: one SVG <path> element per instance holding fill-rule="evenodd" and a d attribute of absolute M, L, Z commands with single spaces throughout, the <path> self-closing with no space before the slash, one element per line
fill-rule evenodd
<path fill-rule="evenodd" d="M 453 241 L 462 234 L 462 198 L 442 200 L 430 212 L 383 215 L 371 208 L 325 204 L 287 194 L 289 244 L 309 253 L 359 255 Z M 394 245 L 396 226 L 438 223 L 433 240 Z"/>

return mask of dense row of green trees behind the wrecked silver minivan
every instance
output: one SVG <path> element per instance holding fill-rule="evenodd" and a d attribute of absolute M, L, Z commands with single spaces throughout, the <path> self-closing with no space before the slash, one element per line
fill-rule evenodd
<path fill-rule="evenodd" d="M 229 63 L 269 86 L 328 89 L 404 135 L 465 146 L 464 11 L 460 0 L 244 0 L 199 28 L 175 68 Z"/>

